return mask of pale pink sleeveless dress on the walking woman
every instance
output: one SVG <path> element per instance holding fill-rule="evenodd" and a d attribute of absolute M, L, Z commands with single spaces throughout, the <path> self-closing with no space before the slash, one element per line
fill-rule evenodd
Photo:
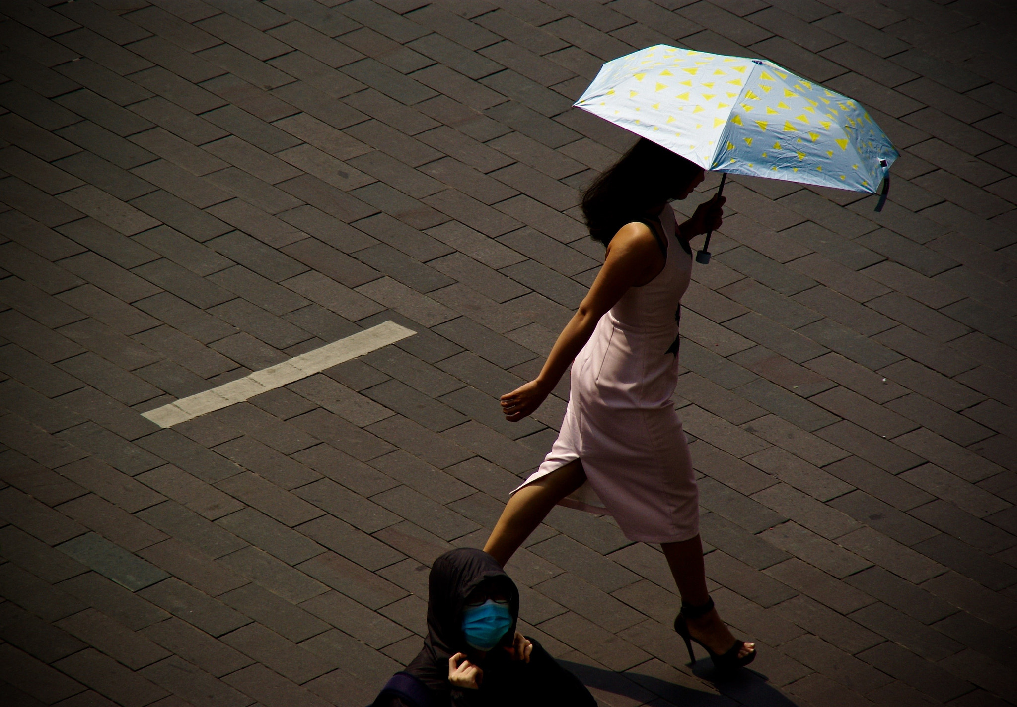
<path fill-rule="evenodd" d="M 671 400 L 678 377 L 675 312 L 693 260 L 675 238 L 670 205 L 660 221 L 664 269 L 631 287 L 600 318 L 573 363 L 561 432 L 540 468 L 519 487 L 581 459 L 586 484 L 559 505 L 610 514 L 625 537 L 642 542 L 677 542 L 699 533 L 699 488 Z"/>

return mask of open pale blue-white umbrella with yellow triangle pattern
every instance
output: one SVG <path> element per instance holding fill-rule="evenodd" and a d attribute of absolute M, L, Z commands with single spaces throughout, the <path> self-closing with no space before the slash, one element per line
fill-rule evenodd
<path fill-rule="evenodd" d="M 899 156 L 856 101 L 766 59 L 656 45 L 604 64 L 575 104 L 705 170 L 883 192 Z M 708 263 L 710 235 L 697 261 Z"/>

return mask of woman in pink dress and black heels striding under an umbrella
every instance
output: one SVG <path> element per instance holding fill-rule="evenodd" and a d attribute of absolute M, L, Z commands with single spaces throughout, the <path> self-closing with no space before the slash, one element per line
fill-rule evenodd
<path fill-rule="evenodd" d="M 707 593 L 699 490 L 671 401 L 678 374 L 678 307 L 692 273 L 690 239 L 721 223 L 723 198 L 677 226 L 703 170 L 640 139 L 583 197 L 604 265 L 558 336 L 540 375 L 501 397 L 505 417 L 536 410 L 570 364 L 572 392 L 550 453 L 513 492 L 484 550 L 502 566 L 555 504 L 614 517 L 625 536 L 659 542 L 681 594 L 674 629 L 732 669 L 756 657 Z"/>

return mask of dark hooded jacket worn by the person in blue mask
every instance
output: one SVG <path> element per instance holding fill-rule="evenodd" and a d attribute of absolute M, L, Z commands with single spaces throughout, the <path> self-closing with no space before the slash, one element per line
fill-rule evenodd
<path fill-rule="evenodd" d="M 463 636 L 463 608 L 481 585 L 496 587 L 508 596 L 513 625 L 486 656 L 479 658 Z M 504 650 L 512 646 L 519 617 L 519 590 L 487 553 L 463 548 L 434 561 L 428 580 L 427 638 L 423 650 L 394 682 L 416 680 L 429 704 L 415 704 L 412 690 L 383 690 L 373 707 L 595 707 L 583 684 L 554 661 L 536 641 L 530 662 L 515 660 Z M 531 639 L 533 640 L 533 639 Z M 448 658 L 466 653 L 483 671 L 479 690 L 454 688 L 448 683 Z M 402 692 L 402 694 L 400 694 Z"/>

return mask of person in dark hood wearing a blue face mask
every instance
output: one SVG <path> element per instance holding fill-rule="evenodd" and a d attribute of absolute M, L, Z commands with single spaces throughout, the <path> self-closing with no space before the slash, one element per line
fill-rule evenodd
<path fill-rule="evenodd" d="M 573 673 L 516 631 L 519 590 L 487 553 L 462 548 L 434 561 L 423 650 L 372 707 L 595 707 Z"/>

